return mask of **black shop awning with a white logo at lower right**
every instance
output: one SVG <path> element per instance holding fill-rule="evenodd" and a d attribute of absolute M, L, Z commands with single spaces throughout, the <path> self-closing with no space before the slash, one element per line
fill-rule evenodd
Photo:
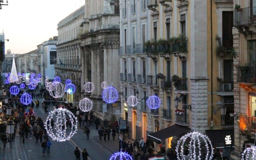
<path fill-rule="evenodd" d="M 206 130 L 214 148 L 225 148 L 234 146 L 234 129 L 232 130 Z M 225 139 L 226 138 L 226 139 Z M 227 141 L 229 140 L 229 141 Z M 231 142 L 230 142 L 231 141 Z M 231 143 L 231 144 L 229 144 Z"/>

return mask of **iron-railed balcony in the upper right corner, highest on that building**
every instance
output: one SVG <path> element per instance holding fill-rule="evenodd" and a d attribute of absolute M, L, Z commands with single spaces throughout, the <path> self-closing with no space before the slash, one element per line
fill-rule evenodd
<path fill-rule="evenodd" d="M 238 32 L 250 34 L 256 32 L 256 7 L 239 8 L 234 10 L 234 27 Z"/>

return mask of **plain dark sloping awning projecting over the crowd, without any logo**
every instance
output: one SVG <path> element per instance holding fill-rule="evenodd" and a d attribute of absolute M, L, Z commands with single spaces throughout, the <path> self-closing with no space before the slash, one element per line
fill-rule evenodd
<path fill-rule="evenodd" d="M 177 136 L 179 134 L 188 133 L 189 131 L 190 131 L 189 128 L 185 128 L 177 124 L 174 124 L 173 126 L 164 128 L 158 132 L 148 134 L 147 139 L 152 140 L 158 144 L 161 144 L 161 141 L 165 140 L 166 138 Z"/>

